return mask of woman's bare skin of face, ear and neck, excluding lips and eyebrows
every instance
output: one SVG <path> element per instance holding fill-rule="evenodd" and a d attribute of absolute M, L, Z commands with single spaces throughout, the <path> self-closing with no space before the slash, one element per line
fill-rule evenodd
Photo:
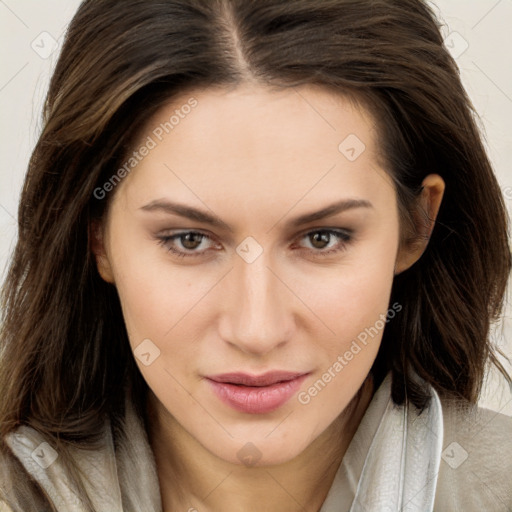
<path fill-rule="evenodd" d="M 419 259 L 433 223 L 420 227 L 424 242 L 399 248 L 396 193 L 378 164 L 374 121 L 347 98 L 315 86 L 192 91 L 149 120 L 140 144 L 191 96 L 197 106 L 117 185 L 94 230 L 98 270 L 117 287 L 132 348 L 149 339 L 160 351 L 148 366 L 137 363 L 151 389 L 164 510 L 317 511 L 375 391 L 367 376 L 382 329 L 307 404 L 295 395 L 270 413 L 238 412 L 204 377 L 309 372 L 307 392 L 358 335 L 381 325 L 394 275 Z M 355 159 L 339 149 L 351 134 L 365 145 Z M 431 219 L 443 191 L 439 176 L 425 180 Z M 231 230 L 141 209 L 163 199 Z M 371 206 L 287 225 L 341 199 Z M 350 240 L 315 237 L 327 228 Z M 207 237 L 159 243 L 187 230 Z M 252 262 L 237 253 L 247 237 L 251 255 L 262 250 Z M 200 255 L 180 258 L 169 247 Z M 252 450 L 251 465 L 241 449 Z"/>

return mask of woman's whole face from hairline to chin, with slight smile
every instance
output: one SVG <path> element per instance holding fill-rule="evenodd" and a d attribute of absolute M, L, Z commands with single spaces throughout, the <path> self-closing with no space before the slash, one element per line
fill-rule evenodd
<path fill-rule="evenodd" d="M 312 86 L 201 90 L 153 116 L 134 151 L 98 265 L 144 379 L 214 455 L 291 460 L 352 400 L 400 314 L 373 119 Z"/>

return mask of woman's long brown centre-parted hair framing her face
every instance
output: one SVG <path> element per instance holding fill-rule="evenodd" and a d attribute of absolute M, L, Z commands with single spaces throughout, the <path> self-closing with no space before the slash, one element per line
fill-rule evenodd
<path fill-rule="evenodd" d="M 146 384 L 117 292 L 90 247 L 91 223 L 115 192 L 98 199 L 94 190 L 164 102 L 247 80 L 319 84 L 371 108 L 404 233 L 423 178 L 445 180 L 426 252 L 395 279 L 392 302 L 403 310 L 372 368 L 377 379 L 392 371 L 394 401 L 426 403 L 413 372 L 470 402 L 487 361 L 510 382 L 489 341 L 511 268 L 506 209 L 426 2 L 86 0 L 51 79 L 2 290 L 1 438 L 29 425 L 57 445 L 94 447 L 104 420 L 122 418 L 126 396 L 143 414 Z"/>

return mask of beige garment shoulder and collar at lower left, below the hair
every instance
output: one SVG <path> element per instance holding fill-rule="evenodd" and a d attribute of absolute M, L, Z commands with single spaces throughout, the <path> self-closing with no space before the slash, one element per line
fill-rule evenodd
<path fill-rule="evenodd" d="M 9 433 L 0 440 L 0 502 L 13 512 L 75 510 L 87 502 L 117 510 L 121 496 L 107 427 L 87 443 L 59 442 L 26 425 Z"/>

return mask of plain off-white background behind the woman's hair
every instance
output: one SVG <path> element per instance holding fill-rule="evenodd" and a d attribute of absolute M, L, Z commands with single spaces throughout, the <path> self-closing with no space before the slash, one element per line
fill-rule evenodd
<path fill-rule="evenodd" d="M 16 240 L 19 194 L 40 132 L 44 94 L 79 3 L 0 0 L 0 282 Z M 512 0 L 436 0 L 434 5 L 512 212 Z M 509 305 L 494 331 L 495 342 L 509 356 L 511 311 Z M 512 416 L 512 393 L 495 372 L 489 374 L 481 405 Z"/>

